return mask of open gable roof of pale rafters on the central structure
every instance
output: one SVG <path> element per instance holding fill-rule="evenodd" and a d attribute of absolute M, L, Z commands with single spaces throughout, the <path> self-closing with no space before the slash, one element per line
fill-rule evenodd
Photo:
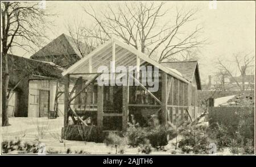
<path fill-rule="evenodd" d="M 101 45 L 100 47 L 94 49 L 89 55 L 86 55 L 81 60 L 77 61 L 75 64 L 73 64 L 71 67 L 69 67 L 67 70 L 65 70 L 62 74 L 65 76 L 66 74 L 71 73 L 86 73 L 88 72 L 88 65 L 89 61 L 90 64 L 92 64 L 93 72 L 97 72 L 97 66 L 96 65 L 104 65 L 104 64 L 110 64 L 112 61 L 112 51 L 113 51 L 113 45 L 116 45 L 115 47 L 115 65 L 116 66 L 129 66 L 137 65 L 137 56 L 139 59 L 141 59 L 141 64 L 143 62 L 149 62 L 150 64 L 156 66 L 163 72 L 166 72 L 167 74 L 170 74 L 171 76 L 188 83 L 185 78 L 182 77 L 182 75 L 177 72 L 176 70 L 173 70 L 171 68 L 167 68 L 166 66 L 163 66 L 162 64 L 159 64 L 158 62 L 150 59 L 147 55 L 144 53 L 138 51 L 137 49 L 131 47 L 131 45 L 128 45 L 126 43 L 123 43 L 122 41 L 119 41 L 118 39 L 115 39 L 112 37 L 111 40 L 106 41 L 105 44 Z M 91 59 L 93 57 L 93 59 Z M 94 62 L 95 61 L 95 62 Z M 77 75 L 76 77 L 83 77 Z"/>

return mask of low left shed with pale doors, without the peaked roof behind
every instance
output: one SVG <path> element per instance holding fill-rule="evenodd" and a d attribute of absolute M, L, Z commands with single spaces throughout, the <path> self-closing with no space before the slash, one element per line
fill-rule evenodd
<path fill-rule="evenodd" d="M 8 55 L 10 70 L 8 115 L 47 117 L 54 109 L 56 81 L 63 69 L 50 62 Z M 17 84 L 18 83 L 18 84 Z M 17 86 L 16 86 L 17 85 Z"/>

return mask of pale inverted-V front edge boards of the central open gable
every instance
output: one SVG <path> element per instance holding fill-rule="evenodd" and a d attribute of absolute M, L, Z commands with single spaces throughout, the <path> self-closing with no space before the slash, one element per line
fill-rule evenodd
<path fill-rule="evenodd" d="M 90 52 L 88 55 L 86 55 L 85 57 L 83 57 L 81 60 L 77 61 L 75 64 L 73 64 L 72 66 L 70 66 L 67 70 L 64 70 L 63 73 L 61 73 L 63 76 L 73 73 L 76 69 L 78 69 L 80 67 L 80 65 L 84 64 L 84 62 L 86 60 L 92 59 L 93 55 L 96 55 L 97 53 L 103 51 L 104 49 L 106 49 L 107 47 L 112 46 L 112 58 L 113 60 L 115 60 L 115 53 L 114 53 L 114 46 L 115 44 L 117 44 L 119 47 L 122 47 L 124 49 L 126 49 L 127 51 L 133 53 L 134 55 L 137 56 L 137 68 L 138 65 L 140 64 L 140 60 L 142 59 L 146 62 L 149 62 L 150 64 L 156 66 L 157 68 L 159 68 L 160 70 L 162 70 L 163 72 L 170 74 L 171 76 L 185 82 L 185 83 L 190 83 L 189 81 L 185 80 L 185 78 L 183 78 L 180 74 L 177 74 L 174 70 L 168 69 L 167 67 L 159 64 L 158 62 L 150 59 L 146 54 L 138 51 L 137 49 L 131 47 L 131 45 L 125 44 L 122 41 L 119 41 L 118 39 L 115 39 L 114 37 L 112 37 L 111 40 L 107 41 L 106 43 L 102 44 L 100 47 L 94 49 L 92 52 Z M 88 67 L 89 69 L 91 69 L 92 67 Z"/>

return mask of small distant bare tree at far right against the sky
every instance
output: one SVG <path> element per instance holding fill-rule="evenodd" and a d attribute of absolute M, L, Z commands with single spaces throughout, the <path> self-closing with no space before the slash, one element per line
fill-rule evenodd
<path fill-rule="evenodd" d="M 246 78 L 246 69 L 253 66 L 254 62 L 254 56 L 252 53 L 235 53 L 233 54 L 234 60 L 230 63 L 229 61 L 226 61 L 228 63 L 225 63 L 224 60 L 217 59 L 217 67 L 218 70 L 225 74 L 225 76 L 229 76 L 230 79 L 232 79 L 234 82 L 236 82 L 237 86 L 240 87 L 241 91 L 245 91 L 245 78 Z M 238 69 L 238 71 L 241 74 L 242 77 L 242 83 L 237 80 L 237 77 L 235 77 L 233 73 L 233 68 Z"/>

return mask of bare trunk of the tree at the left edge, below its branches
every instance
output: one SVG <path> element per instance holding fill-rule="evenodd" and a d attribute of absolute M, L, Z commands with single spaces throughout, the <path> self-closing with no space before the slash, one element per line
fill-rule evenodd
<path fill-rule="evenodd" d="M 9 99 L 7 97 L 8 85 L 9 85 L 9 69 L 8 69 L 8 57 L 7 54 L 3 54 L 5 57 L 5 70 L 2 77 L 2 126 L 9 126 L 8 119 L 8 104 Z"/>

